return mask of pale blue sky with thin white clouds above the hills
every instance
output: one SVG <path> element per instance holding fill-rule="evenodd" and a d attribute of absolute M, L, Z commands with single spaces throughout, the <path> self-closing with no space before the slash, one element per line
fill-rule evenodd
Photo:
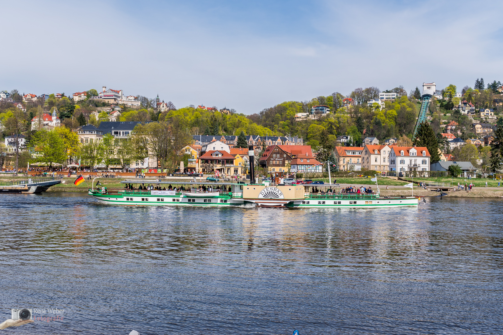
<path fill-rule="evenodd" d="M 357 87 L 503 81 L 503 2 L 2 1 L 0 90 L 259 113 Z"/>

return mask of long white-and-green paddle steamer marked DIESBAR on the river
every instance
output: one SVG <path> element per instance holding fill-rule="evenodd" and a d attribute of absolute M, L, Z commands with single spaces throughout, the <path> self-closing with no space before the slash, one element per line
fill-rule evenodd
<path fill-rule="evenodd" d="M 228 207 L 250 204 L 263 207 L 284 208 L 376 208 L 417 206 L 419 197 L 380 196 L 376 193 L 331 192 L 339 184 L 316 185 L 327 192 L 311 192 L 309 185 L 233 184 L 211 182 L 169 182 L 150 180 L 125 180 L 122 183 L 155 183 L 163 186 L 190 185 L 190 190 L 108 190 L 106 187 L 89 189 L 89 194 L 102 203 L 126 206 L 207 206 Z M 214 191 L 197 191 L 201 185 L 221 188 Z M 312 186 L 312 185 L 311 185 Z M 229 190 L 230 187 L 230 190 Z"/>

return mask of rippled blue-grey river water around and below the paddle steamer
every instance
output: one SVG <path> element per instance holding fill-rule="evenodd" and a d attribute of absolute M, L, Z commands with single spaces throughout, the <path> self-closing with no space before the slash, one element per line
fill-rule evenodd
<path fill-rule="evenodd" d="M 0 195 L 0 321 L 28 307 L 35 318 L 64 309 L 63 320 L 4 332 L 501 334 L 502 205 L 132 208 Z"/>

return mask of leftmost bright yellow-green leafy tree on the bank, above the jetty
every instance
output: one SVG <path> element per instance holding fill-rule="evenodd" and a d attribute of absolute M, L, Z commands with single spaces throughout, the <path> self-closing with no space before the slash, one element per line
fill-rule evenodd
<path fill-rule="evenodd" d="M 34 151 L 32 163 L 45 163 L 52 169 L 53 163 L 62 164 L 67 158 L 64 141 L 56 131 L 40 130 L 35 133 L 30 144 Z"/>

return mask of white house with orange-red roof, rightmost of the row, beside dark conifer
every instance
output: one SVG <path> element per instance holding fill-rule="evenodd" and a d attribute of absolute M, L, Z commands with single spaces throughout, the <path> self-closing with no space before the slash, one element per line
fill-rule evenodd
<path fill-rule="evenodd" d="M 431 155 L 426 147 L 391 147 L 390 171 L 430 171 Z"/>

